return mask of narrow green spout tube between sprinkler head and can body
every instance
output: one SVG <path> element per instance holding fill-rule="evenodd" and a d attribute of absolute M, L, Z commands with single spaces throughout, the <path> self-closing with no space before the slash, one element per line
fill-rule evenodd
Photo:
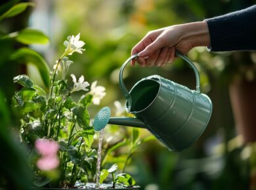
<path fill-rule="evenodd" d="M 137 117 L 110 117 L 108 124 L 117 124 L 122 126 L 135 126 L 139 128 L 148 128 L 148 125 Z"/>

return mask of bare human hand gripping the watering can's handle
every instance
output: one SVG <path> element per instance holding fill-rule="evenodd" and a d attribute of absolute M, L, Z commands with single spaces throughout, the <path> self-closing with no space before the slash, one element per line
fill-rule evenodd
<path fill-rule="evenodd" d="M 137 60 L 132 60 L 134 66 L 162 66 L 173 62 L 175 50 L 186 54 L 193 47 L 209 46 L 210 37 L 206 22 L 192 22 L 169 26 L 150 31 L 133 47 L 131 53 L 139 53 Z"/>

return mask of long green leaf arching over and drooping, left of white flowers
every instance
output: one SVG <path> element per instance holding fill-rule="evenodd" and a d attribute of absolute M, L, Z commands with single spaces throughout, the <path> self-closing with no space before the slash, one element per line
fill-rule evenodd
<path fill-rule="evenodd" d="M 45 86 L 50 86 L 50 69 L 47 62 L 40 54 L 30 48 L 20 48 L 11 56 L 12 60 L 18 61 L 20 64 L 33 64 L 39 70 L 41 78 Z"/>

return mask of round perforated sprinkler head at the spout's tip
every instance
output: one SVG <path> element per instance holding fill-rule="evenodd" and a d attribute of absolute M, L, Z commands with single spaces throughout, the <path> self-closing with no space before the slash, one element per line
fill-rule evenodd
<path fill-rule="evenodd" d="M 95 121 L 93 121 L 93 127 L 96 131 L 100 131 L 108 124 L 110 120 L 110 107 L 103 107 L 95 115 Z"/>

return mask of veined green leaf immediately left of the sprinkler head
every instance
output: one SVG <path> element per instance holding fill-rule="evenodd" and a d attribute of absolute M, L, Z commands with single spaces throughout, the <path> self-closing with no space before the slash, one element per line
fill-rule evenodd
<path fill-rule="evenodd" d="M 90 116 L 86 109 L 86 107 L 78 106 L 73 107 L 71 111 L 76 115 L 77 117 L 77 123 L 81 128 L 88 128 L 90 123 Z"/>

